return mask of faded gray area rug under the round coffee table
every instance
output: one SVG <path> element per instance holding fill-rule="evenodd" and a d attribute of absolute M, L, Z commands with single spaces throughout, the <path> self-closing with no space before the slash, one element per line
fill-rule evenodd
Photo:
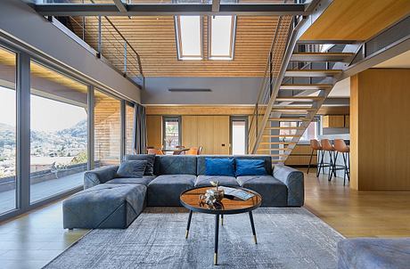
<path fill-rule="evenodd" d="M 185 240 L 187 211 L 146 208 L 126 230 L 94 230 L 45 268 L 335 268 L 340 233 L 305 208 L 258 208 L 225 216 L 214 266 L 215 216 L 193 213 Z"/>

